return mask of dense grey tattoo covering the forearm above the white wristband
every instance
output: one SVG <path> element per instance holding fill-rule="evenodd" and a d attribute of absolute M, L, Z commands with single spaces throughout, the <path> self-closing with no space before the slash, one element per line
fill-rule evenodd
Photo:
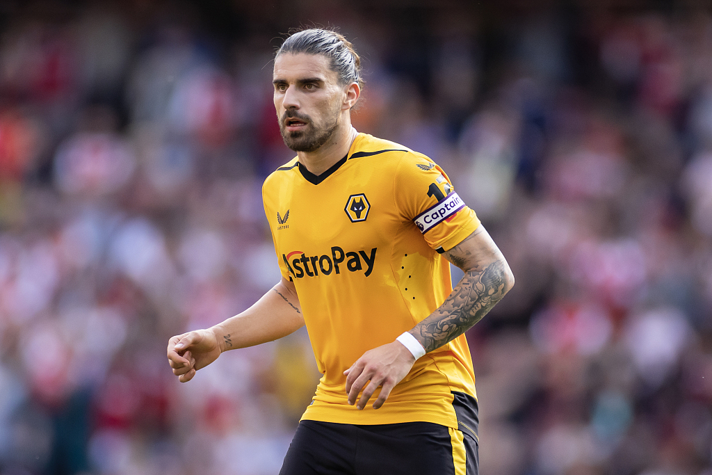
<path fill-rule="evenodd" d="M 458 265 L 457 258 L 450 257 Z M 435 313 L 411 330 L 425 351 L 440 348 L 480 321 L 508 290 L 505 272 L 503 261 L 494 261 L 483 271 L 466 272 Z"/>

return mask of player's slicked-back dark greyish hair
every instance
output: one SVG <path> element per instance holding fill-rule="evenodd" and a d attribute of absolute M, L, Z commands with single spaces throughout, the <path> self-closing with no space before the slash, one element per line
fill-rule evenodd
<path fill-rule="evenodd" d="M 363 88 L 361 78 L 361 58 L 354 46 L 341 33 L 323 28 L 309 28 L 289 36 L 277 50 L 275 57 L 282 53 L 323 54 L 331 61 L 331 69 L 336 71 L 342 84 L 357 83 Z"/>

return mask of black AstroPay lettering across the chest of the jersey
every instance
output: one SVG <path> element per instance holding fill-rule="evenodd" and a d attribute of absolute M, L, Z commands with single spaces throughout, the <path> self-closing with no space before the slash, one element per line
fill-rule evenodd
<path fill-rule="evenodd" d="M 339 246 L 333 246 L 330 254 L 321 256 L 307 256 L 303 251 L 292 251 L 282 254 L 289 273 L 295 278 L 330 276 L 332 273 L 363 272 L 365 277 L 371 275 L 376 262 L 376 249 L 367 251 L 347 251 Z"/>

